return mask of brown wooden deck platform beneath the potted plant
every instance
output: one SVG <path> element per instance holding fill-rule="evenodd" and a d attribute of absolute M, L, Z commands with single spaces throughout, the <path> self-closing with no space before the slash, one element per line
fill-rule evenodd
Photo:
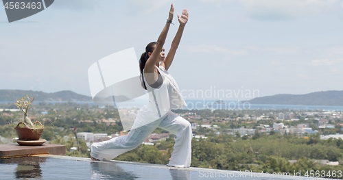
<path fill-rule="evenodd" d="M 0 144 L 0 158 L 24 157 L 28 155 L 65 155 L 66 149 L 60 144 L 41 146 L 19 146 L 19 144 Z"/>

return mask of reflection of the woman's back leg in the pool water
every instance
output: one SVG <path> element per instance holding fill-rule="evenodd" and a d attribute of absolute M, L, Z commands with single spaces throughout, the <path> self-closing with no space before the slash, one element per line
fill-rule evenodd
<path fill-rule="evenodd" d="M 132 180 L 138 177 L 124 171 L 120 166 L 110 162 L 91 162 L 91 179 L 122 179 Z"/>

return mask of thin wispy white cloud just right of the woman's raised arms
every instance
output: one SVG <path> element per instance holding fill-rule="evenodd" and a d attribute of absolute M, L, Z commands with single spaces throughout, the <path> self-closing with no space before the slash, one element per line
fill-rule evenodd
<path fill-rule="evenodd" d="M 245 51 L 242 50 L 230 50 L 226 49 L 224 47 L 218 47 L 217 45 L 196 45 L 196 46 L 189 46 L 186 47 L 189 51 L 193 52 L 202 52 L 202 53 L 226 53 L 226 54 L 231 54 L 231 55 L 241 55 L 246 53 Z"/>

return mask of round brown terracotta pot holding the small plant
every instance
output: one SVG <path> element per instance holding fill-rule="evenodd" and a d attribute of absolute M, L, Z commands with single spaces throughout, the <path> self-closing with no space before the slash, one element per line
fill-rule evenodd
<path fill-rule="evenodd" d="M 24 127 L 19 127 L 21 124 L 23 124 Z M 42 123 L 38 121 L 34 122 L 34 125 L 36 124 L 43 127 Z M 16 129 L 16 134 L 18 134 L 19 140 L 39 140 L 40 135 L 43 133 L 44 127 L 40 129 L 30 128 L 24 122 L 20 122 L 14 129 Z"/>

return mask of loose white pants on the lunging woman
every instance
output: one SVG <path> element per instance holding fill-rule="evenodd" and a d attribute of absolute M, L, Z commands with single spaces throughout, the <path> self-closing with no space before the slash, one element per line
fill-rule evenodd
<path fill-rule="evenodd" d="M 167 166 L 188 168 L 191 165 L 191 123 L 171 111 L 152 123 L 131 129 L 127 136 L 119 136 L 107 141 L 93 143 L 91 145 L 91 156 L 100 160 L 113 159 L 142 144 L 157 127 L 176 135 L 174 151 L 171 153 Z"/>

